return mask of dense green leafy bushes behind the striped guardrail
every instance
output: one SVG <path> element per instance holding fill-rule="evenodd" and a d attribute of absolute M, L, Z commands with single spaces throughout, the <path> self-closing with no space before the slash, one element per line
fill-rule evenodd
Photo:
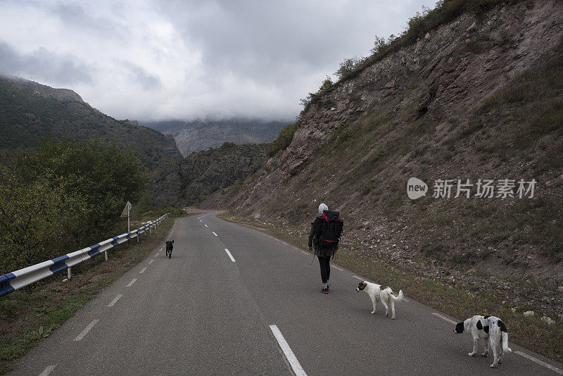
<path fill-rule="evenodd" d="M 146 173 L 115 146 L 45 139 L 0 164 L 0 274 L 76 251 L 136 203 Z M 105 239 L 105 238 L 104 238 Z"/>

